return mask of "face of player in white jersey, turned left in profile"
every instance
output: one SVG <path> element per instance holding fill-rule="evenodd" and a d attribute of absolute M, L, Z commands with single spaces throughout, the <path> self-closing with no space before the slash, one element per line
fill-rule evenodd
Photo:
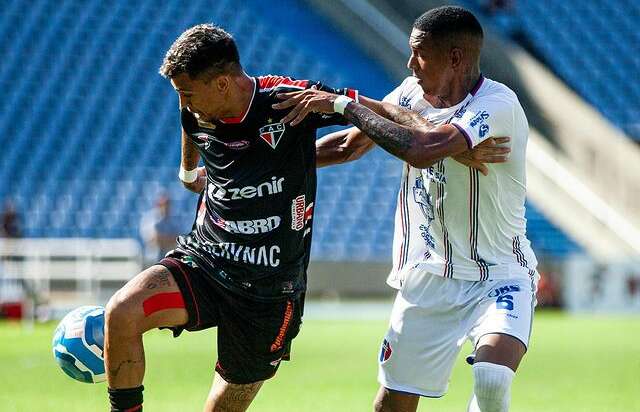
<path fill-rule="evenodd" d="M 453 71 L 448 53 L 443 52 L 423 31 L 413 29 L 409 37 L 411 56 L 407 68 L 418 78 L 418 84 L 429 95 L 439 96 L 446 92 Z"/>

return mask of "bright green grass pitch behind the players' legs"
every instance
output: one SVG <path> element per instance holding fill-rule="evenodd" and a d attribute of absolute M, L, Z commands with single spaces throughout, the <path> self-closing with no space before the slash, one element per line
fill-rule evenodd
<path fill-rule="evenodd" d="M 51 355 L 54 324 L 0 323 L 0 411 L 107 411 L 106 385 L 66 377 Z M 383 320 L 307 320 L 293 361 L 251 411 L 369 411 Z M 540 312 L 513 386 L 512 411 L 640 411 L 640 317 Z M 145 337 L 145 411 L 200 411 L 215 362 L 215 332 Z M 420 411 L 466 409 L 471 370 L 461 356 L 442 399 Z"/>

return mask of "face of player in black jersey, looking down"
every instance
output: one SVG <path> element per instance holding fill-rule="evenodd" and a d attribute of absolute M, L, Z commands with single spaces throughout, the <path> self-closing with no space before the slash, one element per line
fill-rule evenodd
<path fill-rule="evenodd" d="M 186 107 L 204 121 L 223 117 L 228 94 L 228 84 L 224 79 L 222 82 L 220 77 L 206 81 L 199 77 L 192 79 L 182 73 L 171 78 L 171 84 L 178 92 L 181 108 Z"/>

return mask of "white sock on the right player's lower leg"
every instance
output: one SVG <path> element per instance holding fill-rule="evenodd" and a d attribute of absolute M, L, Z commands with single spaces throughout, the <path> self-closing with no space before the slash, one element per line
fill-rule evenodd
<path fill-rule="evenodd" d="M 468 412 L 507 412 L 515 372 L 489 362 L 473 364 L 473 397 Z"/>

